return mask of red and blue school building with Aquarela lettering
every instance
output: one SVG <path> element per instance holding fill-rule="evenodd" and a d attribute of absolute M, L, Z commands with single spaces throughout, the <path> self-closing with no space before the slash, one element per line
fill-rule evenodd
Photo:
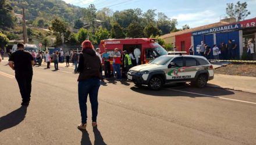
<path fill-rule="evenodd" d="M 240 59 L 243 52 L 247 52 L 247 43 L 250 39 L 253 40 L 255 52 L 255 35 L 256 17 L 239 22 L 234 18 L 223 19 L 218 23 L 172 32 L 160 38 L 163 38 L 167 44 L 175 45 L 179 51 L 189 52 L 190 46 L 193 45 L 195 55 L 198 55 L 198 46 L 201 45 L 201 41 L 212 48 L 214 44 L 218 47 L 222 42 L 227 44 L 231 39 L 237 45 L 236 58 Z M 211 58 L 213 58 L 212 52 Z"/>

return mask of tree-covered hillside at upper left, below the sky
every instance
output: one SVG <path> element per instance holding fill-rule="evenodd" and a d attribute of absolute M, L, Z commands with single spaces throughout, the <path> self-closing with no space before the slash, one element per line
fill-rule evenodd
<path fill-rule="evenodd" d="M 22 14 L 25 8 L 26 20 L 34 21 L 44 19 L 47 23 L 54 17 L 62 17 L 67 22 L 72 22 L 82 17 L 81 8 L 67 4 L 61 0 L 10 0 L 15 13 Z"/>

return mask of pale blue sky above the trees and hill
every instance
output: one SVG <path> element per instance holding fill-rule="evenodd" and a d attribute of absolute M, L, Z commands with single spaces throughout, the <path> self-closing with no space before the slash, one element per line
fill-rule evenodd
<path fill-rule="evenodd" d="M 216 23 L 226 15 L 226 3 L 236 3 L 234 0 L 63 0 L 66 3 L 86 8 L 93 3 L 97 9 L 104 7 L 116 10 L 140 8 L 143 12 L 156 9 L 170 19 L 177 19 L 177 28 L 188 24 L 191 28 Z M 256 17 L 256 0 L 241 0 L 247 2 L 251 12 L 246 19 Z"/>

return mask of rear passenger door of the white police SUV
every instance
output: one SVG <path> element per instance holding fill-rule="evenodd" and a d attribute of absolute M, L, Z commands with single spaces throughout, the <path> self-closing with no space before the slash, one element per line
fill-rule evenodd
<path fill-rule="evenodd" d="M 194 78 L 198 70 L 200 70 L 199 63 L 193 57 L 184 57 L 186 78 Z"/>

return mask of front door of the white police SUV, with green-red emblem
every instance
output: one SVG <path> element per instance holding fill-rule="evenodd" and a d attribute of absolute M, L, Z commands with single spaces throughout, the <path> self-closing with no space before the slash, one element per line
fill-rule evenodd
<path fill-rule="evenodd" d="M 182 79 L 182 76 L 184 75 L 184 61 L 183 56 L 176 57 L 172 61 L 170 61 L 171 64 L 174 64 L 171 68 L 168 68 L 166 71 L 166 79 L 174 81 L 175 79 Z"/>

